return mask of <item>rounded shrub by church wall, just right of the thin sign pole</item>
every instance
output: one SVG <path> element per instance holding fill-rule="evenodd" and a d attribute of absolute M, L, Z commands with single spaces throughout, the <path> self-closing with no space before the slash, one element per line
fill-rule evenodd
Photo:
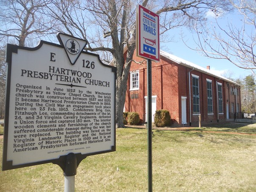
<path fill-rule="evenodd" d="M 171 123 L 171 116 L 170 112 L 167 110 L 156 110 L 155 114 L 155 125 L 156 127 L 165 127 L 170 125 Z"/>

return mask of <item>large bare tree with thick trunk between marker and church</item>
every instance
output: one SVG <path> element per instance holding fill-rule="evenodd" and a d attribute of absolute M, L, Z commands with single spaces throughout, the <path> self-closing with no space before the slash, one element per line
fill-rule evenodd
<path fill-rule="evenodd" d="M 228 0 L 52 0 L 52 4 L 47 5 L 47 14 L 62 25 L 59 31 L 86 39 L 86 50 L 110 53 L 117 67 L 116 123 L 117 127 L 123 127 L 122 111 L 136 48 L 136 5 L 141 4 L 160 15 L 163 34 L 179 26 L 190 28 L 194 21 L 206 22 L 203 16 L 208 9 L 230 10 L 228 3 Z"/>

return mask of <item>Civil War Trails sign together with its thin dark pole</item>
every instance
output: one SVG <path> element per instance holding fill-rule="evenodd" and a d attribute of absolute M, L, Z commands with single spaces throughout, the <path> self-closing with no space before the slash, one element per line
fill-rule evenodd
<path fill-rule="evenodd" d="M 138 5 L 136 10 L 136 55 L 147 58 L 147 175 L 148 192 L 152 181 L 152 71 L 151 60 L 160 61 L 159 15 Z"/>

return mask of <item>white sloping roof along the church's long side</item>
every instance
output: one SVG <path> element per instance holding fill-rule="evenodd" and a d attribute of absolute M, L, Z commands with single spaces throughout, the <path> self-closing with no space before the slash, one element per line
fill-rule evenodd
<path fill-rule="evenodd" d="M 209 75 L 211 75 L 211 76 L 220 78 L 220 79 L 222 79 L 222 80 L 225 80 L 225 81 L 228 81 L 228 82 L 230 82 L 230 83 L 233 83 L 233 84 L 235 84 L 235 85 L 237 85 L 237 86 L 240 86 L 240 84 L 238 84 L 238 83 L 236 83 L 236 82 L 234 82 L 234 81 L 232 81 L 232 80 L 230 80 L 230 79 L 228 79 L 228 78 L 225 78 L 225 77 L 223 77 L 223 76 L 221 76 L 221 75 L 217 75 L 216 73 L 211 72 L 210 70 L 207 70 L 206 68 L 200 67 L 199 65 L 194 64 L 194 63 L 192 63 L 192 62 L 190 62 L 190 61 L 186 61 L 186 60 L 184 60 L 183 58 L 179 58 L 179 57 L 177 57 L 177 56 L 174 56 L 174 55 L 172 55 L 172 54 L 170 54 L 170 53 L 167 53 L 167 52 L 164 52 L 164 51 L 162 51 L 162 50 L 160 50 L 160 55 L 161 55 L 161 56 L 164 56 L 164 57 L 166 57 L 166 58 L 168 58 L 168 59 L 170 59 L 170 60 L 172 60 L 172 61 L 174 61 L 175 63 L 184 65 L 184 66 L 186 66 L 186 67 L 193 68 L 194 70 L 198 70 L 198 71 L 200 71 L 200 72 L 204 72 L 204 73 L 209 74 Z"/>

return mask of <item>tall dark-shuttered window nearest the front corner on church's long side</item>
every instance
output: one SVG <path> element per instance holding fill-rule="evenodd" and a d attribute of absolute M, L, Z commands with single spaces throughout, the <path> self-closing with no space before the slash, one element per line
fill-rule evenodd
<path fill-rule="evenodd" d="M 200 113 L 199 107 L 199 77 L 192 75 L 192 90 L 193 90 L 193 114 Z"/>

